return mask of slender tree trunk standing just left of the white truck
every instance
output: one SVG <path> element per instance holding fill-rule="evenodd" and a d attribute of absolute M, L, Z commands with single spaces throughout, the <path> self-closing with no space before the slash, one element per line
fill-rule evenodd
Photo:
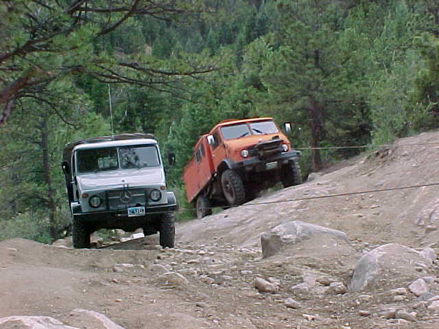
<path fill-rule="evenodd" d="M 51 238 L 58 239 L 58 229 L 56 226 L 56 201 L 54 186 L 51 177 L 51 163 L 49 155 L 49 130 L 47 128 L 47 116 L 43 116 L 41 123 L 41 146 L 43 147 L 43 172 L 44 181 L 47 186 L 47 201 L 49 206 L 49 225 Z"/>

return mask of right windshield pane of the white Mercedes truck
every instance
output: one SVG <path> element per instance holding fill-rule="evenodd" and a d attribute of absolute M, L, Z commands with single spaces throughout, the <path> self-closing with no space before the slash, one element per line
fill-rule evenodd
<path fill-rule="evenodd" d="M 122 169 L 157 167 L 160 165 L 157 148 L 154 145 L 121 147 L 119 156 Z"/>

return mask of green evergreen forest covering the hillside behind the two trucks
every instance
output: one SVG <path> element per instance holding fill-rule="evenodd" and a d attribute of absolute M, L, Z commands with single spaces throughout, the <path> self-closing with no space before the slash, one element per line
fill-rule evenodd
<path fill-rule="evenodd" d="M 246 117 L 304 175 L 437 128 L 439 0 L 0 0 L 0 240 L 64 234 L 66 143 L 154 134 L 187 209 L 198 136 Z"/>

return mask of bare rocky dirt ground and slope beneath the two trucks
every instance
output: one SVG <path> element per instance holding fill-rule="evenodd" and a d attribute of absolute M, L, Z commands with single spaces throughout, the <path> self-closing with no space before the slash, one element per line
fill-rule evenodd
<path fill-rule="evenodd" d="M 14 315 L 64 324 L 33 328 L 438 328 L 439 186 L 401 188 L 439 182 L 438 141 L 439 132 L 402 138 L 181 223 L 174 249 L 157 248 L 156 236 L 130 250 L 1 241 L 0 328 L 29 328 L 4 319 Z M 309 234 L 306 223 L 325 229 Z M 263 258 L 261 235 L 276 234 L 271 246 L 283 244 Z"/>

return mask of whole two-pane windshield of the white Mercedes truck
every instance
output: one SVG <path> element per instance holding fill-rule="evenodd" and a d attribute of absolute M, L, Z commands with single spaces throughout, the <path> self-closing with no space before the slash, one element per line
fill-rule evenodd
<path fill-rule="evenodd" d="M 119 157 L 117 156 L 118 150 Z M 121 169 L 139 169 L 160 166 L 158 151 L 154 145 L 82 149 L 77 152 L 77 159 L 80 173 L 117 170 L 119 167 Z"/>

